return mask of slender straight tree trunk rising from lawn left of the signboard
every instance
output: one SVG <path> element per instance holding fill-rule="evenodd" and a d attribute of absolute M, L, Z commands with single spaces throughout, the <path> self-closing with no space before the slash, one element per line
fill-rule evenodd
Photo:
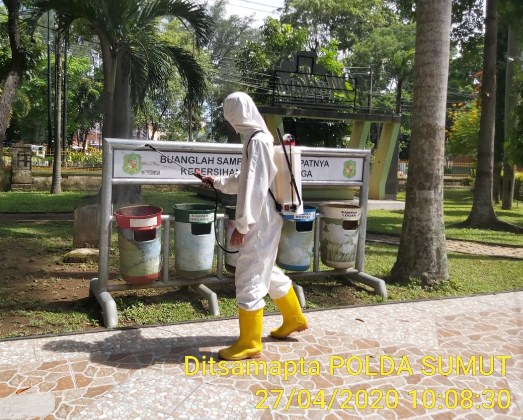
<path fill-rule="evenodd" d="M 62 37 L 58 30 L 55 34 L 54 159 L 51 194 L 62 192 L 62 75 Z"/>

